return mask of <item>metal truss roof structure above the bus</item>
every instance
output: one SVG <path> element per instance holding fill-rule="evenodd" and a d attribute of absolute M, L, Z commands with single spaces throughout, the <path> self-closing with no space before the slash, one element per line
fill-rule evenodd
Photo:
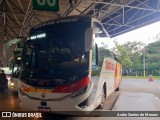
<path fill-rule="evenodd" d="M 0 0 L 0 60 L 3 43 L 27 36 L 31 27 L 71 15 L 98 17 L 110 37 L 160 20 L 160 0 L 59 0 L 58 12 L 33 10 L 32 0 Z"/>

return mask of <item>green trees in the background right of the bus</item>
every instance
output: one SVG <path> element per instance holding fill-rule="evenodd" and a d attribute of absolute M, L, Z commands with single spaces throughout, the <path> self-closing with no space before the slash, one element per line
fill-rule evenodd
<path fill-rule="evenodd" d="M 120 62 L 123 68 L 131 68 L 131 74 L 137 71 L 143 75 L 143 59 L 145 56 L 146 74 L 160 75 L 160 34 L 153 37 L 155 42 L 146 46 L 142 42 L 127 42 L 116 46 L 120 51 Z"/>

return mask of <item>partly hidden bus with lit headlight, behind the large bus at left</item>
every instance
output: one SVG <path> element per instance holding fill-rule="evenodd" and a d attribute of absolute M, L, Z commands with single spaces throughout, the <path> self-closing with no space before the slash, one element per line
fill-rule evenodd
<path fill-rule="evenodd" d="M 14 51 L 13 51 L 13 55 L 8 59 L 8 64 L 9 67 L 8 68 L 8 72 L 9 72 L 9 83 L 8 83 L 8 87 L 12 92 L 18 92 L 18 80 L 19 80 L 19 69 L 21 66 L 21 55 L 22 55 L 22 48 L 23 46 L 20 46 L 21 43 L 23 43 L 23 41 L 26 38 L 16 38 L 16 39 L 12 39 L 6 43 L 3 44 L 3 55 L 4 57 L 8 57 L 9 56 L 9 48 L 14 45 Z M 8 72 L 5 72 L 6 74 Z"/>

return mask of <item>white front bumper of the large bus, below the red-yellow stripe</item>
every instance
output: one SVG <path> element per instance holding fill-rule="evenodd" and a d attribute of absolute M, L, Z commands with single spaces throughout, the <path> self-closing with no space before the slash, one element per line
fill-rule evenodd
<path fill-rule="evenodd" d="M 26 95 L 21 95 L 19 92 L 19 99 L 20 99 L 20 107 L 28 110 L 34 111 L 46 111 L 46 112 L 71 112 L 73 111 L 92 111 L 95 109 L 94 104 L 90 104 L 89 106 L 79 107 L 78 105 L 86 100 L 93 89 L 93 84 L 91 84 L 90 88 L 82 95 L 77 97 L 70 97 L 59 101 L 47 101 L 47 100 L 35 100 Z"/>

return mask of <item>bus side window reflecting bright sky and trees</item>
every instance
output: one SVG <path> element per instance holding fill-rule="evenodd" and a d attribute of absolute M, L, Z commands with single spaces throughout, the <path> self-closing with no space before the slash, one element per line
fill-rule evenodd
<path fill-rule="evenodd" d="M 118 49 L 112 39 L 107 36 L 103 26 L 100 23 L 93 23 L 95 29 L 95 42 L 98 44 L 98 65 L 102 67 L 103 60 L 106 57 L 118 59 Z"/>

